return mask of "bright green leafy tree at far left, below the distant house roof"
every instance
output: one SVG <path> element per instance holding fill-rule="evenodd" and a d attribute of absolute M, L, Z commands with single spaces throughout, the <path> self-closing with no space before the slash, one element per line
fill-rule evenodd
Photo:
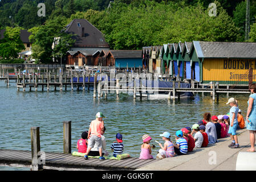
<path fill-rule="evenodd" d="M 25 49 L 20 37 L 21 27 L 6 27 L 4 38 L 0 40 L 0 56 L 6 59 L 14 59 L 18 52 Z"/>

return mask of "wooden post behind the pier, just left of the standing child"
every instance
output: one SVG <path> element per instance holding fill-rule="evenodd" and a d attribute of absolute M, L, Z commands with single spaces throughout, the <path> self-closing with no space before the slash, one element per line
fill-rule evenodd
<path fill-rule="evenodd" d="M 71 121 L 63 122 L 63 153 L 71 154 Z"/>

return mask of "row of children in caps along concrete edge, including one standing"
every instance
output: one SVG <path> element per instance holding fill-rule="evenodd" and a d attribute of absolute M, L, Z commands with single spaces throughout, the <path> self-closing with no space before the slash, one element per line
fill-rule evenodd
<path fill-rule="evenodd" d="M 170 158 L 174 155 L 185 155 L 193 151 L 194 148 L 207 147 L 208 144 L 218 142 L 218 139 L 230 137 L 232 142 L 228 147 L 240 148 L 236 130 L 245 127 L 245 121 L 241 115 L 241 110 L 238 108 L 238 102 L 234 98 L 230 98 L 227 105 L 230 105 L 229 114 L 227 115 L 213 115 L 210 113 L 204 114 L 204 119 L 190 127 L 185 127 L 176 131 L 176 143 L 170 140 L 170 133 L 164 132 L 160 134 L 164 140 L 164 146 L 159 143 L 161 147 L 156 158 Z M 153 159 L 151 155 L 151 137 L 143 135 L 143 144 L 141 146 L 140 159 Z"/>

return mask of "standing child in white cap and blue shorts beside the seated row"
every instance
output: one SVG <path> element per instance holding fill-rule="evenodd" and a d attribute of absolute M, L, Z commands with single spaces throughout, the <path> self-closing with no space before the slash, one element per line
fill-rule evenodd
<path fill-rule="evenodd" d="M 237 139 L 237 126 L 238 126 L 237 114 L 239 110 L 237 107 L 237 101 L 233 97 L 231 97 L 226 104 L 229 104 L 231 107 L 229 110 L 230 127 L 229 127 L 229 131 L 227 131 L 227 133 L 230 135 L 230 138 L 232 139 L 232 143 L 229 144 L 229 147 L 240 148 L 238 144 L 238 139 Z"/>

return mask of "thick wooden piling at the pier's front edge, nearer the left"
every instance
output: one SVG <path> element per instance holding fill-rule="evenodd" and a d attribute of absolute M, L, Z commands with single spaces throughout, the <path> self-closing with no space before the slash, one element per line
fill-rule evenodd
<path fill-rule="evenodd" d="M 39 162 L 39 159 L 40 159 L 39 127 L 31 127 L 30 135 L 31 135 L 32 171 L 39 171 L 43 169 L 43 164 Z"/>

